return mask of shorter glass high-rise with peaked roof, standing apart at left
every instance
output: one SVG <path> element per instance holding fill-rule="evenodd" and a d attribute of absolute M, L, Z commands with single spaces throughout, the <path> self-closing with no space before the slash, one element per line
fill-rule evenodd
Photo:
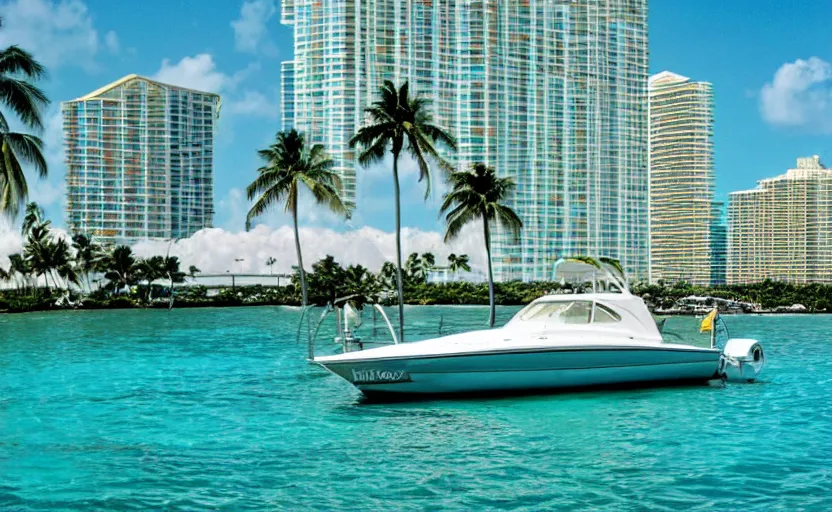
<path fill-rule="evenodd" d="M 137 75 L 62 103 L 70 231 L 122 243 L 211 227 L 219 106 Z"/>

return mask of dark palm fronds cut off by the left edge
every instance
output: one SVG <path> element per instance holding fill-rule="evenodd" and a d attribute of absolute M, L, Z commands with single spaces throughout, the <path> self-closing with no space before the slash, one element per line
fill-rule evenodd
<path fill-rule="evenodd" d="M 43 129 L 41 110 L 49 100 L 31 82 L 44 76 L 46 70 L 29 52 L 17 46 L 0 51 L 0 102 L 17 114 L 27 128 L 37 131 Z M 0 214 L 14 217 L 29 195 L 21 162 L 31 165 L 41 178 L 46 177 L 43 141 L 28 133 L 11 131 L 0 111 Z"/>

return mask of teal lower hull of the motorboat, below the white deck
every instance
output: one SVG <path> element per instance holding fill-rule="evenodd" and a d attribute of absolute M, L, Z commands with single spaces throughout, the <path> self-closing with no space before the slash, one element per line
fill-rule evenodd
<path fill-rule="evenodd" d="M 704 382 L 717 376 L 719 357 L 696 347 L 600 346 L 319 364 L 366 395 L 434 395 Z"/>

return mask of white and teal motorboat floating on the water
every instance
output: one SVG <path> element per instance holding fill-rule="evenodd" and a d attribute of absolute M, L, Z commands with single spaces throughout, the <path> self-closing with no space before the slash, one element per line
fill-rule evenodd
<path fill-rule="evenodd" d="M 338 315 L 337 340 L 344 352 L 313 360 L 368 396 L 757 377 L 764 362 L 757 341 L 731 339 L 719 347 L 712 325 L 711 346 L 666 343 L 644 302 L 629 292 L 617 269 L 595 263 L 559 262 L 560 275 L 579 276 L 592 288 L 541 297 L 499 329 L 363 349 L 349 329 L 354 313 L 347 305 L 343 322 Z M 717 321 L 716 313 L 710 320 Z"/>

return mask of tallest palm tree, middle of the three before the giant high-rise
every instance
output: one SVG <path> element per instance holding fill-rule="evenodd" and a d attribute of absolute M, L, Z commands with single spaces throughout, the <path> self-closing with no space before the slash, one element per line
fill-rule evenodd
<path fill-rule="evenodd" d="M 385 80 L 379 88 L 379 99 L 365 112 L 370 124 L 360 128 L 350 139 L 350 147 L 359 146 L 358 162 L 367 167 L 381 162 L 389 148 L 393 155 L 393 185 L 396 201 L 396 284 L 399 292 L 399 340 L 404 341 L 404 285 L 402 283 L 401 201 L 399 193 L 399 157 L 408 153 L 419 165 L 419 181 L 425 181 L 425 197 L 430 195 L 430 166 L 428 159 L 440 167 L 450 169 L 436 148 L 439 143 L 455 149 L 453 137 L 433 124 L 430 102 L 426 98 L 410 96 L 408 83 L 396 90 L 393 82 Z"/>

